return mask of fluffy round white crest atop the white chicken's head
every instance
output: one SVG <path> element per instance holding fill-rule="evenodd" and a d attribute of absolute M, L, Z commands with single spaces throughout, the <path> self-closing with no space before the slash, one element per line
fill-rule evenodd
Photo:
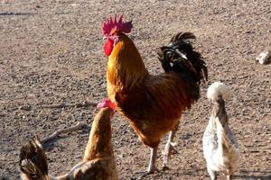
<path fill-rule="evenodd" d="M 228 100 L 232 96 L 229 85 L 225 85 L 220 81 L 214 82 L 207 90 L 207 97 L 212 102 L 217 102 L 219 97 Z"/>

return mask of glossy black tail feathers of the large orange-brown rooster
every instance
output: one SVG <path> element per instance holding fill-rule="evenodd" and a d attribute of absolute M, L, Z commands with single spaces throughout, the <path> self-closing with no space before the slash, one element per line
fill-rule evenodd
<path fill-rule="evenodd" d="M 167 46 L 158 50 L 158 56 L 165 72 L 181 73 L 201 84 L 208 80 L 208 71 L 201 54 L 193 49 L 189 41 L 193 39 L 196 37 L 192 32 L 180 32 Z"/>

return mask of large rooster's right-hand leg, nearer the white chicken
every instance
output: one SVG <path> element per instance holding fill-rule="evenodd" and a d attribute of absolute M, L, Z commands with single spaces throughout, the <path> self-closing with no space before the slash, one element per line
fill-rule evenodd
<path fill-rule="evenodd" d="M 168 169 L 167 163 L 168 163 L 169 157 L 171 156 L 171 151 L 174 150 L 176 152 L 176 150 L 173 148 L 173 139 L 178 130 L 179 124 L 180 124 L 180 121 L 176 124 L 173 130 L 170 131 L 168 141 L 164 147 L 164 161 L 163 161 L 164 170 Z"/>

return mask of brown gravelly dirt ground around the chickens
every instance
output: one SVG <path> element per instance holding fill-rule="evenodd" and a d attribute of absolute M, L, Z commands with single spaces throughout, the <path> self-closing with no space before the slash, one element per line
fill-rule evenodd
<path fill-rule="evenodd" d="M 19 179 L 19 150 L 26 140 L 82 121 L 88 128 L 45 145 L 51 174 L 63 174 L 79 162 L 98 110 L 39 106 L 98 102 L 107 95 L 101 23 L 115 13 L 133 20 L 130 37 L 153 74 L 162 71 L 155 49 L 179 31 L 195 33 L 209 85 L 220 80 L 234 92 L 227 110 L 241 156 L 235 179 L 271 179 L 271 65 L 255 60 L 271 46 L 270 7 L 269 0 L 1 0 L 0 179 Z M 184 113 L 171 169 L 145 179 L 209 179 L 201 148 L 211 108 L 206 89 Z M 112 123 L 118 175 L 138 179 L 134 172 L 146 168 L 149 149 L 122 116 L 117 114 Z M 159 146 L 159 169 L 165 140 Z"/>

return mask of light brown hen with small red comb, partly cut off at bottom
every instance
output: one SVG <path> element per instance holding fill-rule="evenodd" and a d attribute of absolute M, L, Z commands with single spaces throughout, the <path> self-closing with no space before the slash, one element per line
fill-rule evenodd
<path fill-rule="evenodd" d="M 117 168 L 111 142 L 111 117 L 114 105 L 99 103 L 102 109 L 95 116 L 89 142 L 81 162 L 66 175 L 48 174 L 47 157 L 39 139 L 30 140 L 21 149 L 20 169 L 23 180 L 117 180 Z"/>

